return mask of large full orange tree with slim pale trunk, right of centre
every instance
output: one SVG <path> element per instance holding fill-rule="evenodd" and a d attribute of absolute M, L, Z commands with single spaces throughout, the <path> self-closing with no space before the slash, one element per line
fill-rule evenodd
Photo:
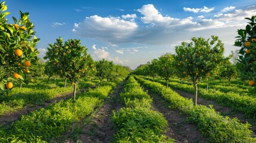
<path fill-rule="evenodd" d="M 218 36 L 211 36 L 211 39 L 192 38 L 192 42 L 182 42 L 175 46 L 175 64 L 180 70 L 190 76 L 195 88 L 194 104 L 198 98 L 198 79 L 206 77 L 223 60 L 224 44 Z"/>

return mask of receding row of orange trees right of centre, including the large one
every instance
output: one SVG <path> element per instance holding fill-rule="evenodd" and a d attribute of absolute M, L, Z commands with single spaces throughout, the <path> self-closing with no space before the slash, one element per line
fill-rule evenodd
<path fill-rule="evenodd" d="M 168 87 L 169 78 L 177 76 L 181 79 L 190 78 L 195 88 L 194 104 L 197 104 L 198 83 L 201 79 L 210 76 L 226 77 L 229 82 L 236 76 L 235 66 L 224 57 L 224 44 L 218 36 L 211 39 L 192 38 L 191 42 L 182 42 L 175 46 L 176 54 L 165 54 L 154 59 L 134 71 L 135 74 L 161 76 L 166 80 Z"/>

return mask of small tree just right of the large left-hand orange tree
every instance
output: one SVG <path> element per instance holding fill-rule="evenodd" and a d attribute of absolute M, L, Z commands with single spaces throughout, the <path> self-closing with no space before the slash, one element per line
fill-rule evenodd
<path fill-rule="evenodd" d="M 113 69 L 113 61 L 107 61 L 103 58 L 102 60 L 97 61 L 95 67 L 96 67 L 95 76 L 97 76 L 98 79 L 100 80 L 100 88 L 101 88 L 102 80 L 106 79 Z"/>

